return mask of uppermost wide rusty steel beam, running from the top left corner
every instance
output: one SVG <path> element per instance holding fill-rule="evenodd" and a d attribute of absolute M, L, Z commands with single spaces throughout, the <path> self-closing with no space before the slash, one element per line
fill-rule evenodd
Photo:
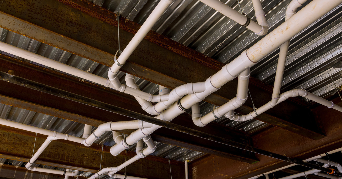
<path fill-rule="evenodd" d="M 0 17 L 2 28 L 107 66 L 113 64 L 113 54 L 118 49 L 116 14 L 86 0 L 4 0 L 0 4 Z M 139 27 L 120 18 L 120 28 L 124 29 L 120 31 L 123 47 Z M 222 66 L 220 62 L 150 31 L 122 71 L 173 89 L 186 82 L 204 81 Z M 249 89 L 256 103 L 265 104 L 271 99 L 272 91 L 269 86 L 263 84 L 266 87 L 261 88 L 259 84 L 251 78 Z M 222 105 L 236 96 L 236 89 L 236 80 L 233 80 L 206 101 Z M 247 114 L 253 111 L 251 106 L 248 100 L 237 112 Z M 302 116 L 295 115 L 299 111 Z M 305 105 L 291 101 L 282 102 L 257 119 L 311 139 L 324 137 Z"/>

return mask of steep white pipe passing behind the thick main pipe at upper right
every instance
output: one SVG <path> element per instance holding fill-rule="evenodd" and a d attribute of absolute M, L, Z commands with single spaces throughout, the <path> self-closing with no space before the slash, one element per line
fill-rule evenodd
<path fill-rule="evenodd" d="M 292 0 L 290 4 L 288 5 L 288 7 L 286 8 L 285 21 L 288 20 L 290 17 L 292 17 L 296 13 L 297 9 L 301 7 L 305 1 L 307 0 Z M 289 50 L 289 45 L 290 45 L 290 40 L 286 41 L 280 46 L 277 71 L 276 71 L 276 76 L 275 76 L 274 85 L 273 85 L 271 105 L 275 105 L 279 99 L 280 87 L 281 87 L 282 77 L 284 75 L 284 69 L 285 69 L 285 63 L 287 59 L 287 52 Z"/>

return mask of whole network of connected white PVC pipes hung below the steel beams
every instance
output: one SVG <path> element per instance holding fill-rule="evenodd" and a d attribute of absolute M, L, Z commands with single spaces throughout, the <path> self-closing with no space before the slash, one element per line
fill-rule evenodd
<path fill-rule="evenodd" d="M 265 20 L 265 13 L 262 10 L 261 3 L 258 2 L 258 0 L 253 0 L 253 5 L 255 7 L 256 17 L 258 20 L 258 23 L 255 22 L 248 22 L 248 17 L 244 16 L 240 13 L 237 13 L 236 11 L 232 11 L 231 8 L 227 8 L 228 6 L 225 4 L 222 4 L 218 0 L 201 0 L 202 2 L 208 4 L 212 8 L 218 10 L 219 12 L 222 12 L 223 14 L 227 15 L 228 17 L 231 17 L 234 21 L 245 25 L 247 28 L 251 29 L 255 33 L 259 35 L 265 35 L 267 33 L 267 23 Z M 298 0 L 294 0 L 290 3 L 289 12 L 287 14 L 292 14 L 295 12 L 297 7 L 299 7 L 303 2 Z M 277 95 L 279 95 L 278 87 L 275 86 L 274 94 L 272 95 L 272 100 L 268 102 L 267 104 L 263 105 L 262 107 L 258 108 L 256 111 L 251 112 L 247 115 L 235 115 L 234 110 L 241 106 L 247 99 L 247 89 L 248 89 L 248 79 L 250 76 L 249 68 L 255 65 L 259 60 L 262 59 L 262 57 L 266 56 L 268 53 L 272 52 L 275 48 L 279 47 L 281 44 L 286 44 L 284 47 L 288 48 L 288 40 L 299 33 L 301 30 L 306 28 L 308 25 L 312 24 L 314 21 L 316 21 L 318 18 L 323 16 L 324 14 L 328 13 L 330 10 L 335 8 L 337 5 L 342 3 L 342 0 L 313 0 L 311 3 L 306 5 L 301 11 L 294 14 L 291 18 L 288 18 L 287 21 L 279 25 L 275 30 L 272 32 L 269 32 L 268 35 L 266 35 L 264 38 L 262 38 L 260 41 L 255 43 L 252 47 L 249 49 L 243 51 L 236 59 L 234 59 L 231 63 L 226 64 L 219 72 L 214 74 L 213 76 L 209 77 L 204 82 L 198 82 L 198 83 L 188 83 L 182 86 L 179 86 L 175 89 L 173 89 L 171 92 L 168 92 L 168 90 L 164 90 L 165 88 L 161 87 L 160 91 L 161 93 L 158 95 L 151 95 L 146 92 L 142 92 L 139 90 L 139 88 L 135 84 L 135 79 L 131 75 L 126 76 L 126 85 L 123 85 L 120 83 L 117 73 L 119 72 L 119 69 L 121 66 L 125 64 L 128 57 L 131 55 L 131 53 L 134 51 L 134 49 L 139 45 L 139 43 L 142 41 L 142 39 L 146 36 L 148 31 L 152 28 L 152 26 L 156 23 L 156 21 L 159 19 L 159 17 L 163 14 L 165 9 L 173 2 L 173 0 L 161 0 L 157 7 L 153 10 L 153 12 L 149 15 L 146 22 L 141 26 L 141 28 L 137 31 L 136 35 L 133 37 L 133 39 L 129 42 L 127 47 L 123 50 L 121 55 L 118 57 L 118 59 L 115 58 L 115 63 L 113 66 L 110 67 L 108 71 L 108 77 L 109 79 L 102 78 L 100 76 L 84 72 L 80 69 L 71 67 L 69 65 L 56 62 L 54 60 L 45 58 L 43 56 L 37 55 L 35 53 L 28 52 L 26 50 L 11 46 L 9 44 L 6 44 L 4 42 L 0 42 L 0 50 L 5 51 L 7 53 L 11 53 L 13 55 L 23 57 L 24 59 L 28 59 L 31 61 L 34 61 L 36 63 L 46 65 L 49 67 L 52 67 L 54 69 L 66 72 L 68 74 L 87 79 L 89 81 L 96 82 L 97 84 L 110 87 L 116 90 L 119 90 L 121 92 L 131 94 L 133 95 L 137 101 L 141 104 L 142 108 L 153 115 L 157 115 L 157 119 L 165 120 L 170 122 L 173 118 L 176 116 L 184 113 L 189 108 L 192 108 L 193 110 L 193 120 L 194 123 L 198 126 L 205 126 L 206 124 L 210 123 L 212 120 L 214 120 L 217 117 L 221 117 L 225 115 L 228 118 L 234 119 L 234 120 L 248 120 L 251 118 L 256 117 L 257 115 L 267 111 L 269 108 L 274 107 L 276 104 L 279 104 L 280 102 L 286 100 L 289 97 L 294 97 L 301 95 L 305 98 L 311 99 L 317 103 L 323 104 L 327 107 L 334 108 L 338 111 L 342 112 L 342 107 L 334 105 L 331 101 L 327 101 L 325 99 L 322 99 L 320 97 L 317 97 L 316 95 L 313 95 L 311 93 L 308 93 L 305 90 L 291 90 L 288 92 L 285 92 L 280 95 L 279 98 L 277 98 Z M 300 4 L 300 5 L 299 5 Z M 284 50 L 284 53 L 287 50 Z M 283 54 L 283 53 L 282 53 Z M 280 59 L 280 57 L 279 57 Z M 280 63 L 280 62 L 279 62 Z M 280 70 L 281 71 L 281 70 Z M 281 76 L 281 75 L 277 75 Z M 212 113 L 209 113 L 205 116 L 200 117 L 199 115 L 199 108 L 198 108 L 198 102 L 202 101 L 205 97 L 210 95 L 211 93 L 219 90 L 224 84 L 226 84 L 228 81 L 233 80 L 234 78 L 238 77 L 238 91 L 236 98 L 233 98 L 226 104 L 215 108 Z M 274 100 L 276 99 L 276 100 Z M 152 105 L 150 102 L 158 102 L 155 105 Z M 7 126 L 14 126 L 18 128 L 18 125 L 23 124 L 17 124 L 14 122 L 5 122 L 6 120 L 0 119 L 0 124 L 7 125 Z M 32 126 L 30 126 L 32 127 Z M 24 127 L 24 130 L 31 130 L 31 128 L 26 126 Z M 41 152 L 45 147 L 55 139 L 65 139 L 65 140 L 71 140 L 78 143 L 83 143 L 86 146 L 90 146 L 98 137 L 100 137 L 105 131 L 113 131 L 113 130 L 119 130 L 119 129 L 137 129 L 136 131 L 132 132 L 131 135 L 129 135 L 126 138 L 123 138 L 121 134 L 117 132 L 113 132 L 113 139 L 115 140 L 116 144 L 111 147 L 110 153 L 112 155 L 118 155 L 123 150 L 128 149 L 133 144 L 137 143 L 138 141 L 141 141 L 143 139 L 148 148 L 141 150 L 141 142 L 139 142 L 137 145 L 139 146 L 139 149 L 137 149 L 137 155 L 131 159 L 129 159 L 127 162 L 123 163 L 122 165 L 118 167 L 107 167 L 102 170 L 100 170 L 97 174 L 94 174 L 90 178 L 96 178 L 97 176 L 100 176 L 101 174 L 104 174 L 105 172 L 109 172 L 109 175 L 112 177 L 119 178 L 119 175 L 116 175 L 115 172 L 122 169 L 124 166 L 127 166 L 131 164 L 132 162 L 136 161 L 139 158 L 143 158 L 144 156 L 152 153 L 155 150 L 155 143 L 150 139 L 149 135 L 153 133 L 155 130 L 160 128 L 160 126 L 141 122 L 141 121 L 129 121 L 129 122 L 109 122 L 100 125 L 93 133 L 91 133 L 91 126 L 86 125 L 84 127 L 84 139 L 82 138 L 76 138 L 73 136 L 67 136 L 65 134 L 57 133 L 49 131 L 47 132 L 44 129 L 44 131 L 35 129 L 34 132 L 41 131 L 43 134 L 51 136 L 48 137 L 46 143 L 44 142 L 44 145 L 41 146 Z M 38 132 L 39 133 L 39 132 Z M 31 163 L 33 163 L 39 154 L 40 151 L 37 152 L 35 155 L 35 158 L 32 157 L 32 160 L 30 160 L 30 163 L 28 163 L 27 168 L 31 169 Z M 48 171 L 48 172 L 55 172 L 55 171 Z M 70 171 L 65 171 L 70 172 Z M 75 175 L 74 172 L 66 173 L 67 175 L 73 176 Z"/>

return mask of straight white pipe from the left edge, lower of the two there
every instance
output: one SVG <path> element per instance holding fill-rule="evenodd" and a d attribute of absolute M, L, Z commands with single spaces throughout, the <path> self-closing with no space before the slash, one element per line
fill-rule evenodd
<path fill-rule="evenodd" d="M 39 127 L 29 126 L 26 124 L 17 123 L 17 122 L 13 122 L 13 121 L 2 119 L 2 118 L 0 118 L 0 124 L 4 125 L 4 126 L 9 126 L 9 127 L 17 128 L 17 129 L 30 131 L 30 132 L 40 133 L 40 134 L 46 135 L 46 136 L 52 136 L 52 137 L 59 138 L 59 139 L 73 141 L 76 143 L 82 143 L 82 141 L 83 141 L 83 139 L 79 138 L 79 137 L 69 136 L 69 135 L 64 134 L 64 133 L 59 133 L 56 131 L 42 129 Z"/>

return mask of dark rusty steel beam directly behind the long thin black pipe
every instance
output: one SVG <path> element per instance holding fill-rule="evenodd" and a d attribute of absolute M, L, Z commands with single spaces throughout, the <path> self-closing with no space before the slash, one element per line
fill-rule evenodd
<path fill-rule="evenodd" d="M 45 85 L 51 85 L 52 87 L 61 90 L 67 90 L 75 94 L 84 95 L 88 98 L 118 107 L 124 107 L 128 110 L 144 114 L 144 111 L 141 109 L 140 105 L 135 101 L 135 99 L 133 99 L 131 96 L 122 97 L 115 90 L 109 90 L 93 83 L 81 81 L 77 78 L 2 54 L 0 54 L 0 63 L 2 64 L 0 66 L 0 71 L 8 72 L 11 70 L 13 75 L 16 76 L 25 77 Z M 13 85 L 8 82 L 0 81 L 0 84 L 1 86 L 6 87 L 0 88 L 0 103 L 73 120 L 75 122 L 92 126 L 98 126 L 109 121 L 132 120 L 126 116 L 117 115 L 95 107 L 90 107 L 63 98 L 58 98 L 47 93 L 41 93 L 36 90 Z M 23 93 L 23 91 L 25 92 Z M 36 96 L 39 96 L 40 98 L 36 98 Z M 240 143 L 248 145 L 250 144 L 250 140 L 248 137 L 246 137 L 245 132 L 224 125 L 212 123 L 206 127 L 198 127 L 194 125 L 190 117 L 185 115 L 178 116 L 173 120 L 173 123 L 202 132 L 211 133 L 216 136 L 222 136 L 226 139 Z M 132 132 L 132 130 L 120 132 L 129 134 Z M 257 159 L 253 157 L 254 155 L 250 154 L 249 152 L 241 152 L 240 150 L 227 147 L 223 144 L 209 140 L 203 140 L 191 135 L 184 135 L 182 132 L 174 130 L 158 129 L 152 136 L 159 142 L 180 146 L 186 149 L 205 152 L 212 155 L 235 158 L 237 160 L 249 163 L 254 163 L 257 161 Z M 184 142 L 182 140 L 184 140 L 185 136 L 188 141 Z"/>

